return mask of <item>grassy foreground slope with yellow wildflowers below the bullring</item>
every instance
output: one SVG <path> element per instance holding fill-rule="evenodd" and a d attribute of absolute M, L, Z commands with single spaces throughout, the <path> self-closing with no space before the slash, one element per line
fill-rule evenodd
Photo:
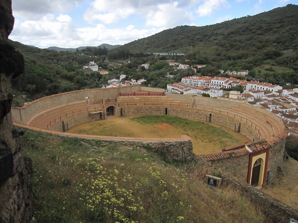
<path fill-rule="evenodd" d="M 263 222 L 230 188 L 206 185 L 199 164 L 167 164 L 144 148 L 26 131 L 37 222 Z"/>

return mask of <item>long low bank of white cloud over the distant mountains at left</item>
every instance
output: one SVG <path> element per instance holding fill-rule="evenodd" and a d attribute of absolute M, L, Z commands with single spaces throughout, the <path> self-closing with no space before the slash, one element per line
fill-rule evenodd
<path fill-rule="evenodd" d="M 98 46 L 103 43 L 120 44 L 148 37 L 161 32 L 160 29 L 137 29 L 134 25 L 124 28 L 109 29 L 102 24 L 94 27 L 74 28 L 69 15 L 44 16 L 39 21 L 15 21 L 17 27 L 9 36 L 22 44 L 33 45 L 39 48 L 57 46 L 63 48 L 76 48 L 80 46 Z"/>

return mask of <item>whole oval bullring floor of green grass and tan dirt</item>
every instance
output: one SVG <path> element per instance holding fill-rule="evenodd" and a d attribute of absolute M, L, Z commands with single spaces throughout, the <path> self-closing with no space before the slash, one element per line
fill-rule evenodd
<path fill-rule="evenodd" d="M 160 128 L 162 123 L 173 128 Z M 188 135 L 192 139 L 193 152 L 196 155 L 218 153 L 222 148 L 249 141 L 245 136 L 223 126 L 168 115 L 109 116 L 107 119 L 77 125 L 68 132 L 146 138 L 176 138 Z"/>

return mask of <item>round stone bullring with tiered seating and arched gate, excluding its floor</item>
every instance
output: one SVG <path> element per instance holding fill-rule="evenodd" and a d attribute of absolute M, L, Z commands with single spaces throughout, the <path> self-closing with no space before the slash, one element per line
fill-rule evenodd
<path fill-rule="evenodd" d="M 69 137 L 147 144 L 170 161 L 197 160 L 219 167 L 239 181 L 265 186 L 282 166 L 286 129 L 275 114 L 248 104 L 190 95 L 165 94 L 163 89 L 127 86 L 87 89 L 47 96 L 11 109 L 15 125 Z M 66 131 L 107 116 L 173 115 L 225 126 L 251 143 L 196 156 L 187 135 L 178 138 L 130 138 L 78 135 Z"/>

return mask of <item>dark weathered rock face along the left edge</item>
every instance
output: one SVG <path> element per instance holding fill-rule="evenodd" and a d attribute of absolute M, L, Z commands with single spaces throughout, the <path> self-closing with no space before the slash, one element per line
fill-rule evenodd
<path fill-rule="evenodd" d="M 11 78 L 24 70 L 23 56 L 7 42 L 13 23 L 11 0 L 0 0 L 0 223 L 30 222 L 33 213 L 31 160 L 10 113 Z"/>

